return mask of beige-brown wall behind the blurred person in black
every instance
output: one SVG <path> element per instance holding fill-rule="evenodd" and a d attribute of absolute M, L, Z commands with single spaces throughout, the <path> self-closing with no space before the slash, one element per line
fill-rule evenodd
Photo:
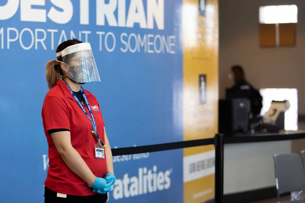
<path fill-rule="evenodd" d="M 296 46 L 260 48 L 260 6 L 296 4 Z M 219 0 L 219 97 L 225 97 L 229 68 L 241 64 L 259 88 L 297 88 L 299 114 L 305 114 L 305 0 Z"/>

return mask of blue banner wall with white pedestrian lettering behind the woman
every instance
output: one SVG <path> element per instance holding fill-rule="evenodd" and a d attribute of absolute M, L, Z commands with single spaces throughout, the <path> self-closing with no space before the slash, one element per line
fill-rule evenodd
<path fill-rule="evenodd" d="M 0 1 L 1 202 L 43 202 L 45 64 L 61 42 L 91 43 L 111 147 L 183 140 L 182 0 Z M 113 157 L 109 202 L 183 202 L 183 150 Z"/>

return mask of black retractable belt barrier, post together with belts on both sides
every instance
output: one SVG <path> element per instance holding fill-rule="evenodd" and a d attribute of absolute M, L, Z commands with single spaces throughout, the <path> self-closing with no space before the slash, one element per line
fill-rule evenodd
<path fill-rule="evenodd" d="M 223 203 L 223 146 L 225 144 L 242 144 L 249 142 L 284 141 L 304 139 L 305 132 L 289 134 L 265 134 L 257 136 L 224 137 L 224 134 L 216 134 L 214 138 L 171 142 L 157 145 L 145 145 L 136 147 L 124 147 L 111 149 L 113 156 L 132 155 L 165 150 L 175 150 L 187 147 L 204 145 L 215 146 L 215 203 Z M 213 202 L 213 201 L 209 201 Z"/>

